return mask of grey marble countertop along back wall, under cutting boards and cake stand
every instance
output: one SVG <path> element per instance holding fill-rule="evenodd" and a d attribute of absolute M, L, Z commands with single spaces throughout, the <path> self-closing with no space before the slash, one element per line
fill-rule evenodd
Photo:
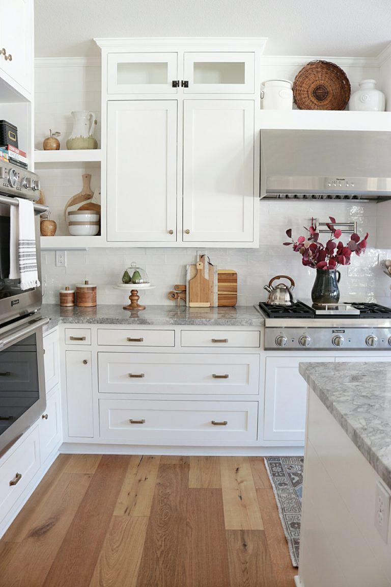
<path fill-rule="evenodd" d="M 59 323 L 128 324 L 152 326 L 263 326 L 264 318 L 254 306 L 235 308 L 187 308 L 186 306 L 147 306 L 145 310 L 123 310 L 120 305 L 97 305 L 93 308 L 55 303 L 43 304 L 40 313 L 51 318 L 44 332 Z"/>

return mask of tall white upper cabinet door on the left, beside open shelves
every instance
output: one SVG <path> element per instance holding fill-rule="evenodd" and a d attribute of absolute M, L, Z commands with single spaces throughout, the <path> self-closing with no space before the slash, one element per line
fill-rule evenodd
<path fill-rule="evenodd" d="M 107 239 L 176 241 L 176 100 L 107 104 Z"/>

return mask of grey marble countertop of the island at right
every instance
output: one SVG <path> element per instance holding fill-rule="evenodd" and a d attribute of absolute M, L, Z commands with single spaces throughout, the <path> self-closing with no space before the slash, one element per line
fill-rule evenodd
<path fill-rule="evenodd" d="M 300 363 L 299 372 L 391 489 L 391 363 Z"/>

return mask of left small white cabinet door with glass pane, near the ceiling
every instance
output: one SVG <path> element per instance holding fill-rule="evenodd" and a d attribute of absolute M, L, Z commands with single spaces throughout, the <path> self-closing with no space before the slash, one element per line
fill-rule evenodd
<path fill-rule="evenodd" d="M 177 53 L 110 53 L 107 64 L 109 94 L 178 92 Z"/>

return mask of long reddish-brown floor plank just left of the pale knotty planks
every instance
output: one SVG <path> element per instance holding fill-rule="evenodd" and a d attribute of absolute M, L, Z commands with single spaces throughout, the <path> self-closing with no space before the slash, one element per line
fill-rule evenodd
<path fill-rule="evenodd" d="M 124 455 L 101 457 L 90 487 L 56 556 L 45 587 L 89 585 L 129 463 Z"/>

